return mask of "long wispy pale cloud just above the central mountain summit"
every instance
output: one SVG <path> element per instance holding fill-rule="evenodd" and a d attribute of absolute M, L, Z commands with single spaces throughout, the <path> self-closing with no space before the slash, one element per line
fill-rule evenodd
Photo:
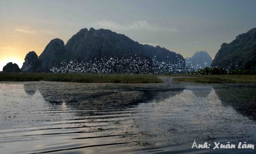
<path fill-rule="evenodd" d="M 118 22 L 101 20 L 96 22 L 96 25 L 102 28 L 109 28 L 114 30 L 149 30 L 149 31 L 167 31 L 167 32 L 178 32 L 178 30 L 172 26 L 170 28 L 160 27 L 158 25 L 153 25 L 145 20 L 143 21 L 134 21 L 127 24 L 120 24 Z"/>

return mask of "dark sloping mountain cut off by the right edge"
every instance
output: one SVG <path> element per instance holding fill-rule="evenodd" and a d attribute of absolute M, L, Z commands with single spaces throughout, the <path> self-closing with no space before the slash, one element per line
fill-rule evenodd
<path fill-rule="evenodd" d="M 230 44 L 223 43 L 211 66 L 256 70 L 256 28 L 238 35 Z"/>

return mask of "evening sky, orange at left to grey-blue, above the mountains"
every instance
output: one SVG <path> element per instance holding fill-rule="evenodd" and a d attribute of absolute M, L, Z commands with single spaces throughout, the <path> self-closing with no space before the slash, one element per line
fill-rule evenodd
<path fill-rule="evenodd" d="M 0 0 L 0 70 L 90 27 L 184 58 L 200 50 L 214 58 L 222 43 L 256 27 L 255 8 L 256 0 Z"/>

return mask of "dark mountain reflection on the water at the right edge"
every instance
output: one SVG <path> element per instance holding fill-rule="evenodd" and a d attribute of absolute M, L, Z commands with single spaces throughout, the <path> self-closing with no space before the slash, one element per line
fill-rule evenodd
<path fill-rule="evenodd" d="M 256 120 L 255 86 L 213 86 L 213 89 L 224 106 L 231 106 L 238 113 L 254 121 Z"/>

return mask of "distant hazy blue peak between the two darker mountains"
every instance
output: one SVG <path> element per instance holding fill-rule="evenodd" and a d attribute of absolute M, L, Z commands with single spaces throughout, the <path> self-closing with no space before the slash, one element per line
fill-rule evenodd
<path fill-rule="evenodd" d="M 206 51 L 197 51 L 192 57 L 186 58 L 186 63 L 195 70 L 209 67 L 211 62 L 211 56 Z"/>

